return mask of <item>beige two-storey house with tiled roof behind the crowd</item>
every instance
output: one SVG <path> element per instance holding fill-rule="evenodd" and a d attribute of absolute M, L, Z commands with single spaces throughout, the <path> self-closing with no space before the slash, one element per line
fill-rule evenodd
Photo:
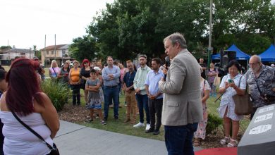
<path fill-rule="evenodd" d="M 56 46 L 51 45 L 47 46 L 44 49 L 40 49 L 41 51 L 41 61 L 46 68 L 51 66 L 51 61 L 56 60 L 59 67 L 61 67 L 62 63 L 66 60 L 70 60 L 68 47 L 70 44 L 57 44 Z M 46 65 L 45 65 L 46 63 Z"/>

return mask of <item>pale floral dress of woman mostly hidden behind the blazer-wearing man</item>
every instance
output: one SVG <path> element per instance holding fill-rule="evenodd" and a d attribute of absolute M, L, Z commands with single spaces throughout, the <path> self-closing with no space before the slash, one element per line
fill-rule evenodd
<path fill-rule="evenodd" d="M 208 84 L 207 80 L 203 80 L 200 82 L 200 92 L 202 94 L 202 97 L 204 97 L 204 91 L 205 90 L 210 90 L 210 85 Z M 195 138 L 201 138 L 204 140 L 205 134 L 206 134 L 206 125 L 207 125 L 207 105 L 206 101 L 202 102 L 202 112 L 203 112 L 203 120 L 199 122 L 199 125 L 197 126 L 197 131 L 194 132 L 194 137 Z"/>

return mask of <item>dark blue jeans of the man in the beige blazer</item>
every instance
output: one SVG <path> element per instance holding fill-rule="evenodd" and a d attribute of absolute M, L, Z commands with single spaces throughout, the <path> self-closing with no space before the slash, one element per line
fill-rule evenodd
<path fill-rule="evenodd" d="M 194 155 L 192 139 L 197 130 L 197 124 L 181 126 L 164 125 L 165 144 L 169 155 L 184 154 Z"/>

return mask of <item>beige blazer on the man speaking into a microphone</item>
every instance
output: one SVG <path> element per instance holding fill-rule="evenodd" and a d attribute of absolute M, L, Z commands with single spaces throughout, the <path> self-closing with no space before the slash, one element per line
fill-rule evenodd
<path fill-rule="evenodd" d="M 178 126 L 202 120 L 200 65 L 187 49 L 171 61 L 166 81 L 159 81 L 164 92 L 161 123 Z"/>

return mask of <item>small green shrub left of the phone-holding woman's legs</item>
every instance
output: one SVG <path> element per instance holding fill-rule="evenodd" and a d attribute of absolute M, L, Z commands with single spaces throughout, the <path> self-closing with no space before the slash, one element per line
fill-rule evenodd
<path fill-rule="evenodd" d="M 223 120 L 218 116 L 215 116 L 211 113 L 208 114 L 207 127 L 206 127 L 206 135 L 216 134 L 216 130 L 219 125 L 222 125 Z"/>

